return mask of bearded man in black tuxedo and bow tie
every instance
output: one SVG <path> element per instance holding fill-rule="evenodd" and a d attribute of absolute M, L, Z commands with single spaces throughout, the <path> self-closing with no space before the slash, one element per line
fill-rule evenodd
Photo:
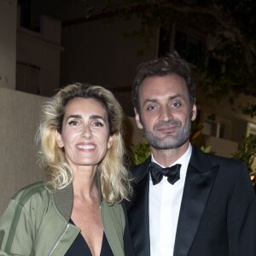
<path fill-rule="evenodd" d="M 134 193 L 126 203 L 135 255 L 255 256 L 256 198 L 247 166 L 189 143 L 196 106 L 186 61 L 174 53 L 141 64 L 132 100 L 151 149 L 131 170 Z"/>

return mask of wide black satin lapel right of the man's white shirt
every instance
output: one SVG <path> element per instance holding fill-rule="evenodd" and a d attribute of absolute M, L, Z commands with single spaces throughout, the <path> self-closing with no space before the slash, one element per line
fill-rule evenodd
<path fill-rule="evenodd" d="M 189 255 L 217 173 L 218 166 L 212 166 L 207 154 L 193 148 L 177 223 L 174 256 Z"/>

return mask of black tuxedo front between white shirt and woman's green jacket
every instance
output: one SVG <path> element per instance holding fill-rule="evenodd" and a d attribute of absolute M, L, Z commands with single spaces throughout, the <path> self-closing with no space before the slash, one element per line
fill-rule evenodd
<path fill-rule="evenodd" d="M 135 168 L 135 183 L 131 201 L 127 201 L 127 217 L 136 255 L 150 255 L 148 191 L 150 160 Z"/>

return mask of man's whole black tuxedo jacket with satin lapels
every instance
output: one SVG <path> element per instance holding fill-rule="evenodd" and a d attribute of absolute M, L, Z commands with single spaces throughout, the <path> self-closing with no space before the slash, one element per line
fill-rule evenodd
<path fill-rule="evenodd" d="M 130 255 L 150 255 L 149 163 L 150 157 L 131 170 L 134 192 L 125 206 Z M 173 255 L 256 255 L 256 198 L 244 163 L 193 147 Z"/>

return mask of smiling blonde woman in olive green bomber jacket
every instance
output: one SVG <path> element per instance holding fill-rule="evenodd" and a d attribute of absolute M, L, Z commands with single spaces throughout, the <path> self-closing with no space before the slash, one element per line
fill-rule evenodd
<path fill-rule="evenodd" d="M 13 197 L 0 219 L 0 252 L 125 255 L 120 201 L 131 187 L 119 103 L 101 86 L 71 84 L 42 110 L 38 138 L 46 183 Z"/>

